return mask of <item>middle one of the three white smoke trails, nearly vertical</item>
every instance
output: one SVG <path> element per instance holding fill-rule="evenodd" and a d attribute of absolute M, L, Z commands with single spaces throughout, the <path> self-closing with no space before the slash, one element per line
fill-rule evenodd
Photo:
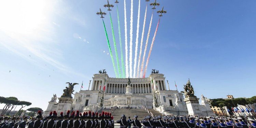
<path fill-rule="evenodd" d="M 130 56 L 129 56 L 129 74 L 132 77 L 132 34 L 133 32 L 133 0 L 131 0 L 131 18 L 130 18 Z"/>

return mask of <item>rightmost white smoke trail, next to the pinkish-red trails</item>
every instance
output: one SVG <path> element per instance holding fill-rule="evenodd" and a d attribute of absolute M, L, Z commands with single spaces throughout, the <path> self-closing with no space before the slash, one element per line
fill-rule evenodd
<path fill-rule="evenodd" d="M 139 28 L 140 28 L 140 0 L 139 0 L 139 10 L 138 10 L 138 20 L 137 20 L 137 32 L 136 32 L 136 42 L 135 42 L 133 78 L 135 78 L 135 75 L 136 75 L 138 43 L 139 43 Z"/>

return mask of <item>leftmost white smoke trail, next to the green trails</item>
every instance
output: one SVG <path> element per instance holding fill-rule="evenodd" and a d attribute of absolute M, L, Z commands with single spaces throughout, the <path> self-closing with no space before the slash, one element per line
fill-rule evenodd
<path fill-rule="evenodd" d="M 124 0 L 125 2 L 125 0 Z M 126 18 L 126 2 L 125 2 L 125 73 L 126 78 L 129 77 L 129 70 L 128 70 L 128 41 L 127 41 L 127 18 Z M 121 49 L 122 50 L 122 49 Z"/>

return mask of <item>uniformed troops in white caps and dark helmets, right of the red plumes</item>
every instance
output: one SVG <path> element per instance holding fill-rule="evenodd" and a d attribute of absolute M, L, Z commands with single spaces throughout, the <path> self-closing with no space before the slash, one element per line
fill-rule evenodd
<path fill-rule="evenodd" d="M 163 119 L 163 120 L 162 120 Z M 146 116 L 141 122 L 138 116 L 135 115 L 131 120 L 126 120 L 125 115 L 122 115 L 117 123 L 120 128 L 256 128 L 254 117 L 213 117 L 213 116 Z"/>

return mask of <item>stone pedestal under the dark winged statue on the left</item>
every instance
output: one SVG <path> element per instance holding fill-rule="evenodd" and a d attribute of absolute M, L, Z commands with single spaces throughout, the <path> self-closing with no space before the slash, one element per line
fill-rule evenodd
<path fill-rule="evenodd" d="M 71 105 L 73 103 L 73 98 L 72 97 L 60 97 L 59 103 L 57 104 L 56 112 L 67 112 L 68 110 L 71 110 Z"/>

